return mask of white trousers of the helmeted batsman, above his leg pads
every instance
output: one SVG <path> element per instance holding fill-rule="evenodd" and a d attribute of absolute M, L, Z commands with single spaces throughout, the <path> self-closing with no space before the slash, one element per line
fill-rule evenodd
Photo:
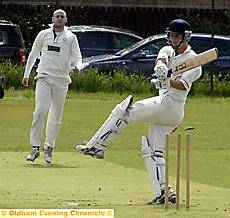
<path fill-rule="evenodd" d="M 152 150 L 163 150 L 165 136 L 184 118 L 184 102 L 166 96 L 147 98 L 135 102 L 128 110 L 129 122 L 149 122 L 148 140 Z"/>

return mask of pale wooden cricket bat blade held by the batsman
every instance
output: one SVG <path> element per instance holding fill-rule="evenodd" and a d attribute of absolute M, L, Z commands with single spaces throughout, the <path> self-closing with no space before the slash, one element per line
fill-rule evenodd
<path fill-rule="evenodd" d="M 185 71 L 191 70 L 193 68 L 202 66 L 204 64 L 207 64 L 211 61 L 214 61 L 218 58 L 218 50 L 217 48 L 209 49 L 205 52 L 202 52 L 198 54 L 195 57 L 188 58 L 184 60 L 183 62 L 177 64 L 174 66 L 171 70 L 171 73 L 173 75 L 178 75 L 181 73 L 184 73 Z"/>

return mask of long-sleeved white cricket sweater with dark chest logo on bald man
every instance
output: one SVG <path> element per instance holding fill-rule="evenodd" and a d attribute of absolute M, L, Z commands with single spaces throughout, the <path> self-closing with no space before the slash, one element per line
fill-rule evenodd
<path fill-rule="evenodd" d="M 30 52 L 24 78 L 29 78 L 31 69 L 40 59 L 37 72 L 54 77 L 68 77 L 71 67 L 81 69 L 82 56 L 77 37 L 66 27 L 55 33 L 53 28 L 42 30 L 36 37 Z"/>

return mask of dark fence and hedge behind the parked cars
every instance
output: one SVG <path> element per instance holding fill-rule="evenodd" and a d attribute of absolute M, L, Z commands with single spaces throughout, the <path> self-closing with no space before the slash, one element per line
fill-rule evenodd
<path fill-rule="evenodd" d="M 21 4 L 13 4 L 13 2 L 21 2 Z M 28 4 L 30 2 L 31 4 Z M 230 11 L 228 10 L 230 1 L 225 0 L 165 0 L 159 4 L 152 3 L 153 6 L 148 3 L 150 1 L 141 1 L 142 5 L 139 6 L 136 4 L 140 1 L 129 1 L 131 2 L 130 7 L 127 3 L 121 4 L 120 1 L 93 1 L 99 2 L 98 6 L 95 6 L 96 3 L 92 6 L 92 1 L 85 1 L 89 6 L 84 6 L 82 1 L 73 0 L 48 1 L 50 5 L 47 3 L 44 5 L 42 1 L 39 1 L 40 4 L 38 1 L 37 4 L 35 2 L 3 0 L 3 3 L 0 3 L 0 19 L 19 24 L 28 47 L 31 46 L 37 33 L 51 22 L 52 12 L 57 7 L 67 11 L 68 25 L 97 24 L 122 27 L 134 31 L 142 37 L 163 32 L 167 24 L 175 18 L 187 19 L 193 27 L 193 32 L 211 33 L 213 31 L 215 34 L 230 35 Z M 74 2 L 77 3 L 74 5 Z M 107 2 L 104 7 L 102 7 L 103 2 Z M 115 6 L 110 2 L 117 2 L 117 4 Z M 134 4 L 135 2 L 136 4 Z M 188 2 L 192 3 L 188 4 Z M 197 8 L 197 6 L 200 7 Z M 213 23 L 212 17 L 214 18 Z"/>

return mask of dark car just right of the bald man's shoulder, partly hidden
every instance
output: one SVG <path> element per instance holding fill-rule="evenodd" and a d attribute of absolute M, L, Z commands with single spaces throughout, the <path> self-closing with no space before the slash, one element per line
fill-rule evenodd
<path fill-rule="evenodd" d="M 125 29 L 108 26 L 70 26 L 83 57 L 113 54 L 143 38 Z"/>

